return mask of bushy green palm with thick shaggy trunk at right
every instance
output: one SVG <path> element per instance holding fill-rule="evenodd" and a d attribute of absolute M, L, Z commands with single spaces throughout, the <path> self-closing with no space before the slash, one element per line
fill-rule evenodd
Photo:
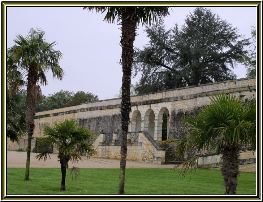
<path fill-rule="evenodd" d="M 210 98 L 210 105 L 201 109 L 197 116 L 185 116 L 181 121 L 189 124 L 184 128 L 185 138 L 162 143 L 177 146 L 175 154 L 180 158 L 191 148 L 200 152 L 206 150 L 222 154 L 221 170 L 225 194 L 235 194 L 240 149 L 244 147 L 256 150 L 256 101 L 252 100 L 244 105 L 233 95 L 218 94 Z M 202 155 L 183 163 L 184 169 L 179 173 L 185 175 L 188 168 L 193 168 Z"/>

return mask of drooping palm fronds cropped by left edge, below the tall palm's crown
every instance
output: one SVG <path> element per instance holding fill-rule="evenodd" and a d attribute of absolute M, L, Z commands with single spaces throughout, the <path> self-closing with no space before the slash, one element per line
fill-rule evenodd
<path fill-rule="evenodd" d="M 7 86 L 7 138 L 19 143 L 19 139 L 27 135 L 25 106 L 26 93 L 23 89 L 16 89 L 11 94 Z"/>

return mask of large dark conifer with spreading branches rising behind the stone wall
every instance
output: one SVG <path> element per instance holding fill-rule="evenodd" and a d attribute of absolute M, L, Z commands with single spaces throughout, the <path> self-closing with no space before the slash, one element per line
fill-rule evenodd
<path fill-rule="evenodd" d="M 249 39 L 208 8 L 198 7 L 185 23 L 145 29 L 149 38 L 136 49 L 133 76 L 141 74 L 140 94 L 235 79 L 232 71 L 247 51 Z"/>

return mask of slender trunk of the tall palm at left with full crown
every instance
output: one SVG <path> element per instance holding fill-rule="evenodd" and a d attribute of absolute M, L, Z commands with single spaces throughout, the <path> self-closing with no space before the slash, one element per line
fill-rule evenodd
<path fill-rule="evenodd" d="M 27 160 L 26 160 L 26 173 L 25 179 L 29 180 L 29 168 L 30 168 L 30 155 L 31 155 L 31 140 L 35 129 L 34 116 L 36 99 L 33 93 L 33 88 L 37 83 L 37 73 L 34 67 L 30 67 L 28 71 L 28 86 L 27 86 L 27 98 L 26 98 L 26 124 L 28 131 L 28 145 L 27 145 Z"/>

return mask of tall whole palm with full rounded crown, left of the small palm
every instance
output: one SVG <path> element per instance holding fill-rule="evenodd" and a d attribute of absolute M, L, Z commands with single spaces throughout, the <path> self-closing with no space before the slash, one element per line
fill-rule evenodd
<path fill-rule="evenodd" d="M 18 86 L 26 85 L 26 124 L 28 133 L 25 180 L 29 180 L 31 139 L 35 128 L 35 104 L 40 100 L 40 85 L 47 85 L 45 73 L 51 70 L 53 78 L 62 80 L 64 71 L 58 65 L 62 58 L 55 51 L 55 42 L 45 41 L 45 32 L 38 28 L 29 30 L 26 37 L 20 34 L 14 39 L 15 45 L 7 50 L 7 80 L 11 92 Z"/>

